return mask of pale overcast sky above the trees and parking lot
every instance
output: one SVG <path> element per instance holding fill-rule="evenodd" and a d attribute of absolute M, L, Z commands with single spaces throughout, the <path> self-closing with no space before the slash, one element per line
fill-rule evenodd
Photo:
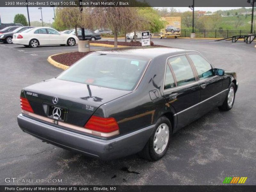
<path fill-rule="evenodd" d="M 188 7 L 174 7 L 177 12 L 184 12 L 190 11 Z M 240 7 L 195 7 L 195 11 L 217 11 L 217 10 L 230 10 L 230 9 L 237 9 Z M 250 8 L 250 7 L 248 7 Z M 40 21 L 41 19 L 41 12 L 38 10 L 38 7 L 29 7 L 29 17 L 30 21 Z M 43 7 L 43 20 L 47 23 L 53 22 L 53 8 L 52 7 Z M 0 7 L 0 16 L 2 23 L 12 23 L 14 19 L 14 15 L 22 13 L 26 17 L 27 15 L 27 8 L 26 7 Z M 27 18 L 28 19 L 28 18 Z"/>

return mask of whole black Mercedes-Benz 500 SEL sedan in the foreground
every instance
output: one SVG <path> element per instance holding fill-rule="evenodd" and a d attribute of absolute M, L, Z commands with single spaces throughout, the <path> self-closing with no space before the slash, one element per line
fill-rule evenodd
<path fill-rule="evenodd" d="M 174 48 L 92 52 L 60 75 L 23 88 L 20 128 L 104 160 L 158 160 L 172 134 L 213 108 L 229 110 L 236 73 Z"/>

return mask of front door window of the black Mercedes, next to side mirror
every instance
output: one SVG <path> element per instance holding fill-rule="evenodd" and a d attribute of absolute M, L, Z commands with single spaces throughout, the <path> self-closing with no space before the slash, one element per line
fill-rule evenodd
<path fill-rule="evenodd" d="M 205 60 L 201 55 L 189 54 L 189 57 L 196 67 L 199 79 L 205 79 L 214 76 L 211 64 Z"/>

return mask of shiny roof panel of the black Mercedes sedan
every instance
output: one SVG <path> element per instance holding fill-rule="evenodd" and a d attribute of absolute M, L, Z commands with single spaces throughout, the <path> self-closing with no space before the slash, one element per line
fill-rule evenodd
<path fill-rule="evenodd" d="M 136 56 L 153 59 L 162 55 L 178 55 L 187 52 L 196 52 L 193 50 L 178 49 L 172 47 L 134 47 L 134 48 L 118 48 L 118 49 L 109 49 L 96 51 L 100 54 L 116 54 L 116 55 L 127 55 L 127 56 Z"/>

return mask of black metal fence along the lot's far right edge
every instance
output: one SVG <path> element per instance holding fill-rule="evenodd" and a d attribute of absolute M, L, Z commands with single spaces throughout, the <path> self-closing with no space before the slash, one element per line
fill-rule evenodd
<path fill-rule="evenodd" d="M 194 29 L 196 37 L 202 38 L 228 38 L 236 35 L 248 35 L 251 31 L 246 30 L 217 30 L 217 29 Z M 253 33 L 255 34 L 255 30 Z M 181 29 L 181 37 L 190 37 L 192 29 Z"/>

